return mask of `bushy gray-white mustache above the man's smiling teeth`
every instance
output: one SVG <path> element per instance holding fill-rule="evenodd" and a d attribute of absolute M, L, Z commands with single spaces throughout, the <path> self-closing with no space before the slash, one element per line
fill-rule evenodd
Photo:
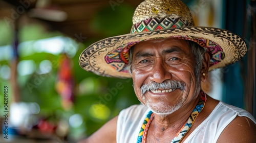
<path fill-rule="evenodd" d="M 162 83 L 157 83 L 155 81 L 150 81 L 149 83 L 146 83 L 144 85 L 142 85 L 140 87 L 140 90 L 141 90 L 141 93 L 142 95 L 147 92 L 147 91 L 150 91 L 150 90 L 157 90 L 157 89 L 163 89 L 163 90 L 166 90 L 166 89 L 181 89 L 181 90 L 185 90 L 186 86 L 185 86 L 185 83 L 182 82 L 182 81 L 177 81 L 177 80 L 167 80 L 167 81 L 164 81 Z"/>

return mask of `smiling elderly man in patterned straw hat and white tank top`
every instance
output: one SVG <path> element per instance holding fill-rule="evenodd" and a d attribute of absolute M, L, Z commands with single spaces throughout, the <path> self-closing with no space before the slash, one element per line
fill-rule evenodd
<path fill-rule="evenodd" d="M 180 0 L 142 2 L 130 34 L 92 44 L 79 60 L 97 75 L 132 77 L 142 104 L 122 110 L 81 142 L 254 142 L 252 115 L 201 90 L 208 71 L 245 53 L 239 36 L 196 27 Z"/>

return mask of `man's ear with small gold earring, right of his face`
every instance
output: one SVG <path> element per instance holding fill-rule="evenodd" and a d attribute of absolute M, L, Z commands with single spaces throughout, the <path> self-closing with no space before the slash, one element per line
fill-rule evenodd
<path fill-rule="evenodd" d="M 210 66 L 210 55 L 207 52 L 205 52 L 203 63 L 202 63 L 202 68 L 201 68 L 201 80 L 203 82 L 205 82 L 208 78 L 209 66 Z"/>

